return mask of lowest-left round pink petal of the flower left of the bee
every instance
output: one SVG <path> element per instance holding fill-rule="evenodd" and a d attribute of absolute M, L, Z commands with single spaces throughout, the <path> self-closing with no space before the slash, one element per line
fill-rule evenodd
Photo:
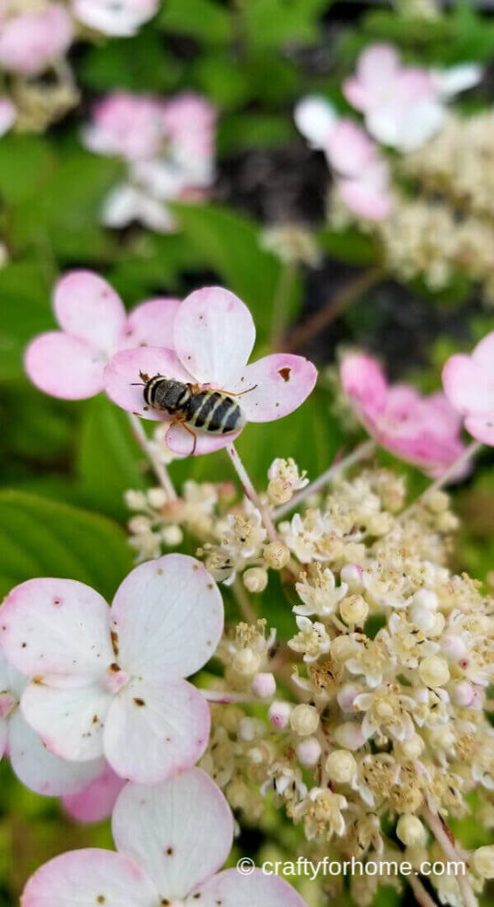
<path fill-rule="evenodd" d="M 31 381 L 44 394 L 63 400 L 85 400 L 103 388 L 106 357 L 77 337 L 50 331 L 34 337 L 24 354 Z"/>

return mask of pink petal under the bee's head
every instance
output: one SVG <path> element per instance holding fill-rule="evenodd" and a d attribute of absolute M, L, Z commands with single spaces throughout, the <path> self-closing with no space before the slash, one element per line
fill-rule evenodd
<path fill-rule="evenodd" d="M 122 350 L 113 356 L 104 370 L 104 389 L 113 403 L 154 422 L 170 422 L 170 415 L 148 406 L 144 400 L 144 387 L 140 372 L 149 375 L 163 375 L 187 383 L 190 375 L 180 365 L 179 359 L 170 349 L 159 346 L 139 346 L 137 349 Z M 136 384 L 137 382 L 137 384 Z"/>

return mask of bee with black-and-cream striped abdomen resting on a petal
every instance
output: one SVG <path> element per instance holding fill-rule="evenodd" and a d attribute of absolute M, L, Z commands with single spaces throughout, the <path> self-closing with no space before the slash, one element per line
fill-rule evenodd
<path fill-rule="evenodd" d="M 248 394 L 257 387 L 254 385 L 241 394 L 233 394 L 185 384 L 164 375 L 150 378 L 145 372 L 139 374 L 146 405 L 173 416 L 172 425 L 183 424 L 194 438 L 191 453 L 195 453 L 198 441 L 194 428 L 209 434 L 233 434 L 243 428 L 246 417 L 233 398 Z"/>

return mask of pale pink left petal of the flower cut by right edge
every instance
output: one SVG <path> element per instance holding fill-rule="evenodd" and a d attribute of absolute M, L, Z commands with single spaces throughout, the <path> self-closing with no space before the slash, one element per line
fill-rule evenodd
<path fill-rule="evenodd" d="M 450 356 L 442 370 L 442 385 L 450 404 L 463 415 L 494 410 L 494 382 L 486 381 L 473 356 Z"/>

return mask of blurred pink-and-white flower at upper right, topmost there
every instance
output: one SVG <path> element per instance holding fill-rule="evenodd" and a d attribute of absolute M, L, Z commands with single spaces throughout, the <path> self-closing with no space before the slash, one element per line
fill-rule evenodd
<path fill-rule="evenodd" d="M 344 96 L 363 112 L 374 139 L 413 151 L 441 128 L 445 99 L 478 83 L 480 75 L 473 64 L 433 72 L 403 66 L 391 44 L 372 44 L 344 83 Z"/>

